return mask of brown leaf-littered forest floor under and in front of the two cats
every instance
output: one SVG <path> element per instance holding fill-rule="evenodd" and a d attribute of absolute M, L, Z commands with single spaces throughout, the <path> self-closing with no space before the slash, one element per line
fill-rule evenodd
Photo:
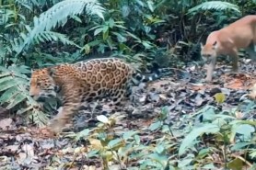
<path fill-rule="evenodd" d="M 175 74 L 154 81 L 146 88 L 136 87 L 133 100 L 128 101 L 125 107 L 113 109 L 102 103 L 85 107 L 73 119 L 73 128 L 76 131 L 87 130 L 83 130 L 83 133 L 64 132 L 54 139 L 35 132 L 39 131 L 36 127 L 18 124 L 17 118 L 1 115 L 0 169 L 102 169 L 102 164 L 105 164 L 102 154 L 101 157 L 97 153 L 89 156 L 89 152 L 92 148 L 103 148 L 103 138 L 100 143 L 99 136 L 96 140 L 93 134 L 89 134 L 89 130 L 98 135 L 100 130 L 106 130 L 111 139 L 121 137 L 125 131 L 138 131 L 140 141 L 144 145 L 153 146 L 155 140 L 167 135 L 165 130 L 157 130 L 159 127 L 156 124 L 163 108 L 168 113 L 165 123 L 175 136 L 177 131 L 182 131 L 190 123 L 186 116 L 201 108 L 217 106 L 228 110 L 237 107 L 256 83 L 253 64 L 243 62 L 240 69 L 239 74 L 224 74 L 227 66 L 218 63 L 212 84 L 201 83 L 203 71 L 198 71 L 194 66 L 183 71 L 177 70 Z M 214 97 L 218 92 L 226 96 L 225 101 L 219 105 Z M 109 121 L 111 119 L 114 121 Z M 178 145 L 183 137 L 180 135 L 175 138 Z M 116 159 L 111 159 L 110 169 L 118 169 L 120 166 Z M 120 162 L 122 166 L 130 167 L 139 164 L 134 158 Z"/>

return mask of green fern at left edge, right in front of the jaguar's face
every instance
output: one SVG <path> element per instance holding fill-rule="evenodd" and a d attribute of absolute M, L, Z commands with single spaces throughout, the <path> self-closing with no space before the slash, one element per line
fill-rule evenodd
<path fill-rule="evenodd" d="M 26 74 L 30 74 L 30 70 L 24 65 L 8 69 L 0 66 L 0 105 L 17 110 L 18 115 L 29 113 L 34 123 L 41 126 L 48 118 L 41 111 L 41 106 L 29 96 L 29 77 Z"/>

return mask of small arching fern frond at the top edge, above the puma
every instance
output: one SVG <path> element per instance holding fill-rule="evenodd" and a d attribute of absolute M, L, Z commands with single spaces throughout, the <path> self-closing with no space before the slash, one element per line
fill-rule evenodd
<path fill-rule="evenodd" d="M 204 2 L 201 5 L 192 7 L 188 13 L 198 12 L 201 10 L 210 10 L 210 9 L 215 9 L 215 10 L 231 9 L 231 10 L 234 10 L 234 11 L 240 13 L 239 6 L 231 4 L 231 3 L 223 2 L 223 1 Z"/>

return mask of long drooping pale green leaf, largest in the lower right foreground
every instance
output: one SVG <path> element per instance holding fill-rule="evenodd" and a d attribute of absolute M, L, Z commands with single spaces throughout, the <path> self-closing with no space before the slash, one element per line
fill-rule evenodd
<path fill-rule="evenodd" d="M 202 127 L 196 127 L 194 128 L 181 142 L 180 148 L 179 148 L 179 155 L 186 152 L 186 149 L 191 147 L 192 142 L 199 136 L 201 136 L 204 133 L 216 133 L 220 129 L 215 124 L 204 124 Z"/>

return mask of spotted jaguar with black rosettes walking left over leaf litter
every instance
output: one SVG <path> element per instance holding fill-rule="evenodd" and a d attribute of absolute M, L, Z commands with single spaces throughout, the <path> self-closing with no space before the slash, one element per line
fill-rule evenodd
<path fill-rule="evenodd" d="M 145 82 L 157 76 L 138 74 L 131 64 L 119 58 L 62 63 L 32 71 L 29 95 L 35 100 L 60 98 L 62 109 L 48 125 L 50 131 L 58 133 L 81 103 L 111 97 L 112 104 L 119 104 L 131 95 L 133 80 Z"/>

